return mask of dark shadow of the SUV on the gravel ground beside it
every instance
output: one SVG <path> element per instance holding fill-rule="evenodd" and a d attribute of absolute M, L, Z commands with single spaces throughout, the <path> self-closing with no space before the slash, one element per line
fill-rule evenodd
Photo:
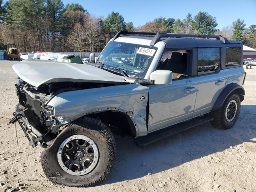
<path fill-rule="evenodd" d="M 116 165 L 102 185 L 142 178 L 149 172 L 169 170 L 230 146 L 255 142 L 251 140 L 256 137 L 255 115 L 256 105 L 242 105 L 238 121 L 229 130 L 218 130 L 206 123 L 145 148 L 138 148 L 131 137 L 117 137 Z"/>

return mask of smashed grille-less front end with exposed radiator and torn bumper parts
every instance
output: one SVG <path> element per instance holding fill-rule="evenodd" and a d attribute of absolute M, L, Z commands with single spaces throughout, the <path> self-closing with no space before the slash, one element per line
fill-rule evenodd
<path fill-rule="evenodd" d="M 50 146 L 51 141 L 58 135 L 60 127 L 70 120 L 53 115 L 54 108 L 46 105 L 53 95 L 46 94 L 45 90 L 40 91 L 20 78 L 15 87 L 19 104 L 10 123 L 18 122 L 30 146 L 35 147 L 38 144 L 43 147 Z"/>

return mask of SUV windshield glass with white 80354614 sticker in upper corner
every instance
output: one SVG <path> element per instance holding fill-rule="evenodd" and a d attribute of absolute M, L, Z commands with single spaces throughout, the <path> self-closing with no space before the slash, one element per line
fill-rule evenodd
<path fill-rule="evenodd" d="M 128 76 L 144 78 L 156 48 L 138 44 L 109 42 L 98 57 L 104 68 L 120 68 Z M 117 71 L 118 72 L 118 71 Z"/>

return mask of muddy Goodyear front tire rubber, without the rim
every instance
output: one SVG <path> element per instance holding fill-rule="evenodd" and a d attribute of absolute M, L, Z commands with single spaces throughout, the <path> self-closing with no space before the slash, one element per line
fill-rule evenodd
<path fill-rule="evenodd" d="M 96 167 L 88 174 L 82 176 L 74 176 L 62 170 L 57 158 L 60 144 L 66 138 L 77 134 L 91 138 L 99 150 Z M 108 177 L 114 167 L 115 156 L 116 143 L 108 127 L 99 120 L 84 117 L 66 126 L 54 140 L 52 146 L 42 152 L 41 165 L 46 177 L 54 184 L 86 187 L 96 185 Z"/>

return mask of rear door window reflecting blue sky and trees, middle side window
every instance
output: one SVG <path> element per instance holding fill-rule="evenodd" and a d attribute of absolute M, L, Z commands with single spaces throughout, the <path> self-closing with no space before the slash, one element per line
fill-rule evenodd
<path fill-rule="evenodd" d="M 198 75 L 215 73 L 218 66 L 220 66 L 220 48 L 198 48 Z"/>

